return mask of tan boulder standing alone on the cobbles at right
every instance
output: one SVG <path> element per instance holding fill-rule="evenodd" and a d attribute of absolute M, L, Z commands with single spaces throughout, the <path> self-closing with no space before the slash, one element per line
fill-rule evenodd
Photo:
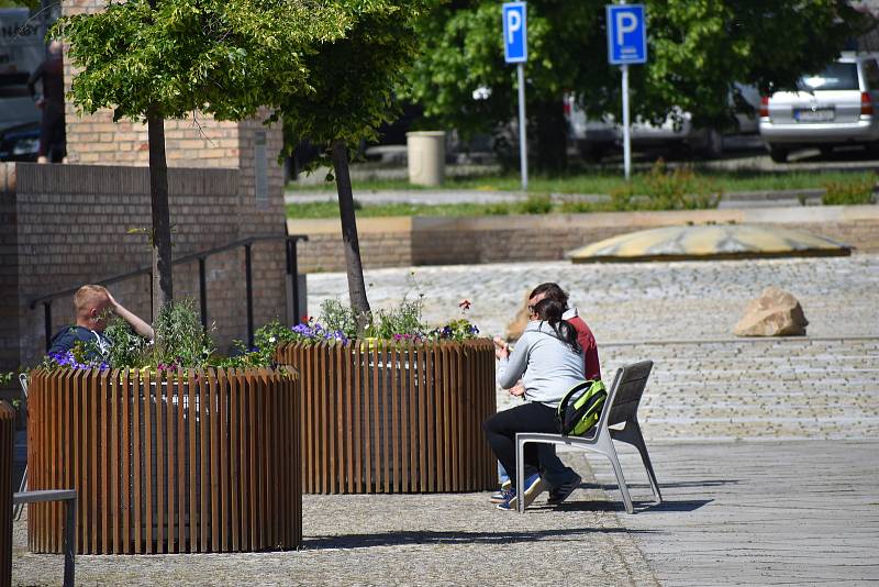
<path fill-rule="evenodd" d="M 736 336 L 804 336 L 809 321 L 790 292 L 770 286 L 748 302 L 745 315 L 733 329 Z"/>

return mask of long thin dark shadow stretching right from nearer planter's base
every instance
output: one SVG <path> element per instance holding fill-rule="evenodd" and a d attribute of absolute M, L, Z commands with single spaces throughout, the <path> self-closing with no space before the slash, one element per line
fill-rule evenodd
<path fill-rule="evenodd" d="M 502 516 L 516 516 L 515 512 L 498 512 Z M 624 528 L 568 528 L 559 530 L 535 530 L 531 532 L 504 532 L 502 519 L 499 529 L 491 532 L 385 532 L 377 534 L 342 534 L 338 536 L 315 536 L 303 540 L 305 549 L 367 549 L 371 546 L 398 546 L 402 544 L 497 544 L 499 542 L 533 542 L 542 539 L 563 539 L 588 533 L 616 534 L 632 533 Z M 643 531 L 641 531 L 643 533 Z"/>

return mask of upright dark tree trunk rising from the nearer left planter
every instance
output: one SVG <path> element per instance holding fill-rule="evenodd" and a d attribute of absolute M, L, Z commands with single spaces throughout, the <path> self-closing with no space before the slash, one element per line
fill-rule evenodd
<path fill-rule="evenodd" d="M 153 320 L 174 297 L 171 277 L 171 225 L 168 211 L 168 163 L 165 159 L 165 121 L 151 112 L 146 118 L 149 131 L 149 197 L 153 209 Z"/>

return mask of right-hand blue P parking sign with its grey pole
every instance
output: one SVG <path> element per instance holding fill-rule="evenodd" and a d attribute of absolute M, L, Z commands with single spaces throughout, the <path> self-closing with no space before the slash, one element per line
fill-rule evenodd
<path fill-rule="evenodd" d="M 628 117 L 628 65 L 647 63 L 647 23 L 642 4 L 608 4 L 608 62 L 623 74 L 623 168 L 632 174 Z"/>

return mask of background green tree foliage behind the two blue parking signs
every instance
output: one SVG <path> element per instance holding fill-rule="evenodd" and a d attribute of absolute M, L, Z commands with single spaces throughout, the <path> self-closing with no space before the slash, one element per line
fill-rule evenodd
<path fill-rule="evenodd" d="M 630 68 L 633 115 L 661 120 L 677 106 L 698 124 L 717 126 L 731 121 L 735 82 L 763 89 L 790 85 L 833 59 L 868 20 L 846 0 L 643 3 L 648 63 Z M 532 122 L 542 123 L 547 109 L 557 121 L 566 90 L 589 114 L 619 117 L 620 73 L 608 64 L 605 4 L 528 1 L 525 75 Z M 427 117 L 465 133 L 492 132 L 515 117 L 515 68 L 503 60 L 498 2 L 453 1 L 424 21 L 419 37 L 423 51 L 413 68 L 411 99 Z M 480 88 L 490 93 L 475 100 Z M 557 135 L 552 140 L 559 142 Z"/>

